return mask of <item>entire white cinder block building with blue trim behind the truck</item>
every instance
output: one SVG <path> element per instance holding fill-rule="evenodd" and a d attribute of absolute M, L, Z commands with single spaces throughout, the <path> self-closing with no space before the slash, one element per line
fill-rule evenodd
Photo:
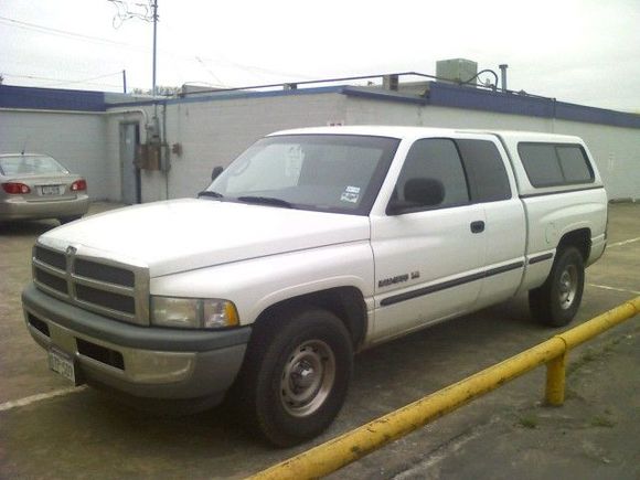
<path fill-rule="evenodd" d="M 213 167 L 227 166 L 262 136 L 318 125 L 577 135 L 596 158 L 610 199 L 640 199 L 640 115 L 550 98 L 426 82 L 401 83 L 396 90 L 285 86 L 122 103 L 98 92 L 0 85 L 0 152 L 50 153 L 87 178 L 95 200 L 194 196 Z M 153 156 L 143 145 L 154 141 L 161 160 L 145 161 Z"/>

